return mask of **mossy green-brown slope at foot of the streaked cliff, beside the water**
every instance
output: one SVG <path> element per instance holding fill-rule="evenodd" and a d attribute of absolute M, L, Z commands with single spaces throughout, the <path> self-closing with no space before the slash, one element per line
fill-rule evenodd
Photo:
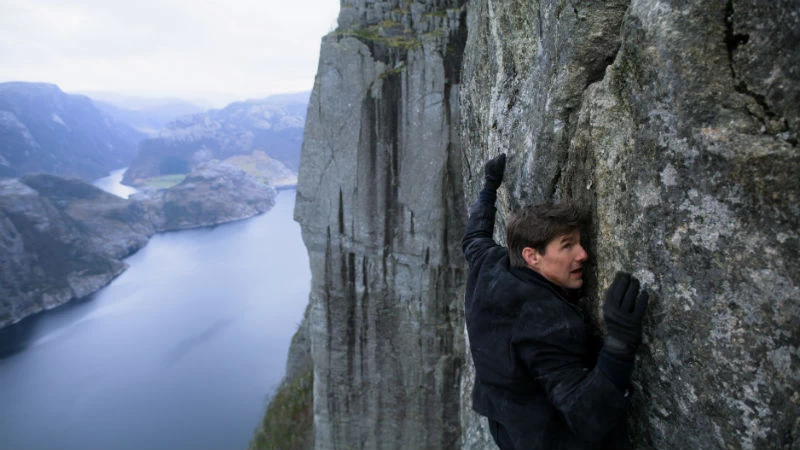
<path fill-rule="evenodd" d="M 281 385 L 267 406 L 250 450 L 305 450 L 314 446 L 314 370 Z"/>

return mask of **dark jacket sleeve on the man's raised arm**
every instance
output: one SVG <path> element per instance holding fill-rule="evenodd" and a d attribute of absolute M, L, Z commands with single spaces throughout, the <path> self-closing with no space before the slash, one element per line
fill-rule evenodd
<path fill-rule="evenodd" d="M 461 249 L 470 266 L 480 263 L 491 248 L 498 247 L 492 237 L 497 214 L 497 208 L 494 206 L 496 200 L 495 191 L 483 189 L 478 194 L 478 200 L 470 208 L 467 229 L 461 240 Z"/>

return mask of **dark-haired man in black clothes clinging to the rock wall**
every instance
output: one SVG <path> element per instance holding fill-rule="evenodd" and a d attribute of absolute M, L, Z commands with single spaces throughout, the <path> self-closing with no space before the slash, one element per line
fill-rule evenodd
<path fill-rule="evenodd" d="M 462 241 L 473 409 L 489 419 L 502 450 L 630 448 L 626 389 L 647 293 L 617 274 L 603 307 L 608 337 L 592 352 L 581 308 L 565 295 L 583 285 L 581 215 L 568 205 L 526 208 L 508 222 L 509 248 L 496 244 L 505 163 L 502 154 L 485 165 Z"/>

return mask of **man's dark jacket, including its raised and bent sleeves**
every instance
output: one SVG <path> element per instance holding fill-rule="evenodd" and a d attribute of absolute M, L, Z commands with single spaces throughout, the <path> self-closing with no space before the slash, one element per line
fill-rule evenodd
<path fill-rule="evenodd" d="M 492 238 L 494 201 L 481 192 L 462 241 L 473 409 L 515 450 L 629 448 L 625 394 L 595 366 L 581 309 L 537 272 L 511 267 Z"/>

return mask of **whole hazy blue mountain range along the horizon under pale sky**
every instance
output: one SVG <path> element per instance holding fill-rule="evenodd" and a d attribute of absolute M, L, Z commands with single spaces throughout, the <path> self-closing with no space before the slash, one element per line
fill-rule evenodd
<path fill-rule="evenodd" d="M 203 111 L 180 99 L 68 94 L 47 83 L 0 83 L 0 177 L 48 173 L 92 181 L 129 167 L 142 186 L 214 160 L 294 184 L 309 92 Z"/>

